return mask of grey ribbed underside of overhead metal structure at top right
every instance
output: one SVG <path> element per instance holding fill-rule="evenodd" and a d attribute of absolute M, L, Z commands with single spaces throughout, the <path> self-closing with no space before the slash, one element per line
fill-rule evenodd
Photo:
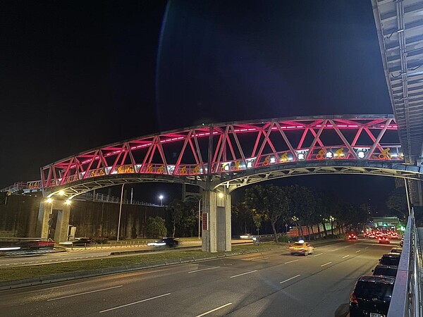
<path fill-rule="evenodd" d="M 372 0 L 405 163 L 422 163 L 423 0 Z"/>

